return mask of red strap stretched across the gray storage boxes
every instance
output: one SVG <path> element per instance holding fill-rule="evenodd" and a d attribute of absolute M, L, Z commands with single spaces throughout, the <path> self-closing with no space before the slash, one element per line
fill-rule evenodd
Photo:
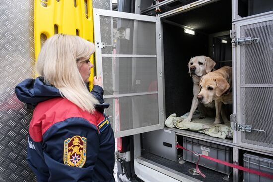
<path fill-rule="evenodd" d="M 177 148 L 180 148 L 180 149 L 183 149 L 183 150 L 187 150 L 187 151 L 192 152 L 192 153 L 194 153 L 195 155 L 199 156 L 199 157 L 198 157 L 198 160 L 197 160 L 197 163 L 196 163 L 196 171 L 197 171 L 201 176 L 203 176 L 204 174 L 198 169 L 198 162 L 199 162 L 200 156 L 201 156 L 201 157 L 204 157 L 204 158 L 206 158 L 206 159 L 212 160 L 212 161 L 214 161 L 214 162 L 217 162 L 217 163 L 220 163 L 220 164 L 224 164 L 224 165 L 226 165 L 226 166 L 230 166 L 230 167 L 232 167 L 232 168 L 236 168 L 236 169 L 239 169 L 239 170 L 242 170 L 242 171 L 246 171 L 246 172 L 248 172 L 248 173 L 254 173 L 254 174 L 259 175 L 259 176 L 264 176 L 264 177 L 273 179 L 273 175 L 268 174 L 268 173 L 256 171 L 256 170 L 253 170 L 253 169 L 249 169 L 249 168 L 246 168 L 246 167 L 239 166 L 239 165 L 237 165 L 237 164 L 229 163 L 229 162 L 226 162 L 226 161 L 222 161 L 222 160 L 219 160 L 219 159 L 215 159 L 215 158 L 213 158 L 213 157 L 209 157 L 209 156 L 206 156 L 206 155 L 203 155 L 203 154 L 199 154 L 199 153 L 197 153 L 197 152 L 193 152 L 193 151 L 191 151 L 191 150 L 188 150 L 188 149 L 186 149 L 186 148 L 184 148 L 184 147 L 182 147 L 182 146 L 180 146 L 180 145 L 178 145 L 178 144 L 176 145 L 176 147 L 177 147 Z M 205 176 L 205 175 L 204 175 L 204 176 Z M 203 176 L 203 177 L 204 177 L 204 176 Z M 205 178 L 205 177 L 204 177 L 204 178 Z"/>

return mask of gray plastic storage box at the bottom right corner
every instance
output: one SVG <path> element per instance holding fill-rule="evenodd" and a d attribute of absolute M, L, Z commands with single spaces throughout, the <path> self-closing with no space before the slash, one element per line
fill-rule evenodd
<path fill-rule="evenodd" d="M 273 158 L 244 153 L 244 167 L 273 175 Z M 272 179 L 244 171 L 244 182 L 273 182 Z"/>

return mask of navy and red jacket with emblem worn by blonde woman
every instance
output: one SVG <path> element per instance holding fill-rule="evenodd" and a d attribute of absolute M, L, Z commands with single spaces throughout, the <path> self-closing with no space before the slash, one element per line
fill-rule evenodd
<path fill-rule="evenodd" d="M 35 107 L 29 126 L 27 161 L 39 182 L 114 182 L 114 133 L 102 113 L 103 90 L 96 111 L 83 111 L 61 97 L 43 78 L 26 79 L 15 88 L 18 99 Z"/>

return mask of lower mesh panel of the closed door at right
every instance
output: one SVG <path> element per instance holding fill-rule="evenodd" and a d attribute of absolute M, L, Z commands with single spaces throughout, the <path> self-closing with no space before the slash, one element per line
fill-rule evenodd
<path fill-rule="evenodd" d="M 241 98 L 242 124 L 267 133 L 242 132 L 241 142 L 273 148 L 273 88 L 241 88 Z"/>

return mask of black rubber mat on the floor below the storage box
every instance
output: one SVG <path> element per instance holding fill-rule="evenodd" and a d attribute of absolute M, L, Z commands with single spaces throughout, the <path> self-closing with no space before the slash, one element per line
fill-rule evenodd
<path fill-rule="evenodd" d="M 195 168 L 195 164 L 190 162 L 185 162 L 184 164 L 179 164 L 177 162 L 170 161 L 168 159 L 165 159 L 163 157 L 159 157 L 157 155 L 151 154 L 151 153 L 142 153 L 142 157 L 145 159 L 148 159 L 150 161 L 153 161 L 157 164 L 163 165 L 167 168 L 170 168 L 172 170 L 175 170 L 177 172 L 183 173 L 185 175 L 188 175 L 190 177 L 193 177 L 195 179 L 201 180 L 203 182 L 228 182 L 226 180 L 223 180 L 224 176 L 226 176 L 223 173 L 219 173 L 217 171 L 210 170 L 208 168 L 199 166 L 199 169 L 202 173 L 205 174 L 205 178 L 203 178 L 201 175 L 191 175 L 188 170 L 191 168 Z M 233 181 L 233 175 L 230 175 L 229 182 Z"/>

